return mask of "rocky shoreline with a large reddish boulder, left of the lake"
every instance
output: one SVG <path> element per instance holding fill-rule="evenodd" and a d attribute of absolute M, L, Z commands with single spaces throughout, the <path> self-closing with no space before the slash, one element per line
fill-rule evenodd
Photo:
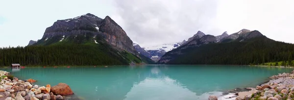
<path fill-rule="evenodd" d="M 65 96 L 73 95 L 65 83 L 38 86 L 33 84 L 36 80 L 20 80 L 6 71 L 0 71 L 0 78 L 0 100 L 65 100 Z"/>

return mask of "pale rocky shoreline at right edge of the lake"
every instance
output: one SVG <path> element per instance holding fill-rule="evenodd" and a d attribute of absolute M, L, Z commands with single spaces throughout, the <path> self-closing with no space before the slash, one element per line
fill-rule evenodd
<path fill-rule="evenodd" d="M 246 88 L 250 91 L 237 92 L 228 100 L 294 100 L 294 71 L 270 76 L 271 80 L 256 86 Z M 209 100 L 218 100 L 209 96 Z"/>

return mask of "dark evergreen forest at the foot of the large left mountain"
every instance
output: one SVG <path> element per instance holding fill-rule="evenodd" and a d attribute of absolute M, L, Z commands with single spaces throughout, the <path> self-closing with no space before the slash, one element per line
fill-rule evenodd
<path fill-rule="evenodd" d="M 25 66 L 129 65 L 142 59 L 127 51 L 103 45 L 50 45 L 0 49 L 0 66 L 20 63 Z"/>

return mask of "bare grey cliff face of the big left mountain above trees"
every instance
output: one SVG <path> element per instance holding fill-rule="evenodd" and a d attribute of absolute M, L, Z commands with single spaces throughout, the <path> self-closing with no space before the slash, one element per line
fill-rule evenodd
<path fill-rule="evenodd" d="M 43 38 L 37 44 L 50 45 L 69 41 L 68 38 L 71 37 L 72 40 L 76 40 L 80 36 L 86 38 L 82 40 L 83 43 L 89 41 L 97 43 L 97 38 L 101 37 L 117 50 L 138 54 L 133 42 L 120 25 L 109 16 L 101 19 L 90 13 L 72 19 L 58 20 L 46 29 Z"/>

